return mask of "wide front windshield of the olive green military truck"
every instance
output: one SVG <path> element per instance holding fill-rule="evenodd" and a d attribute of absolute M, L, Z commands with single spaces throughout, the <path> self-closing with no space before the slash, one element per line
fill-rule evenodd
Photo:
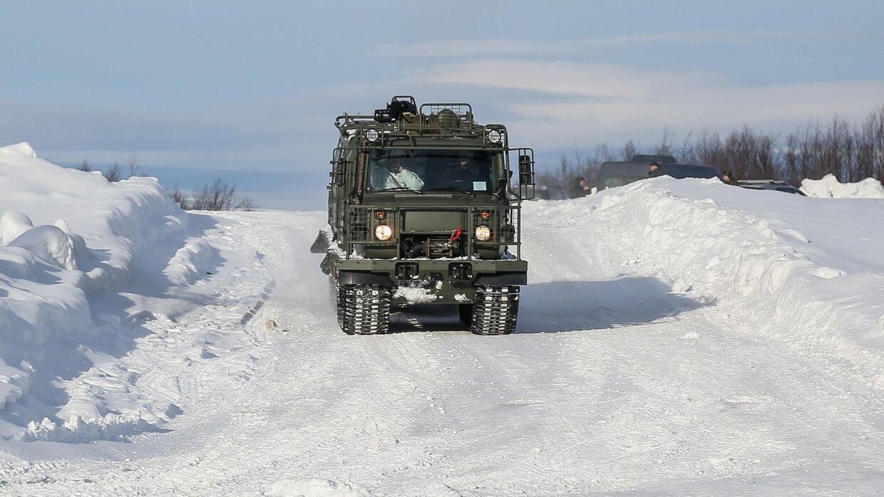
<path fill-rule="evenodd" d="M 487 150 L 372 150 L 365 189 L 493 192 L 492 171 Z"/>

